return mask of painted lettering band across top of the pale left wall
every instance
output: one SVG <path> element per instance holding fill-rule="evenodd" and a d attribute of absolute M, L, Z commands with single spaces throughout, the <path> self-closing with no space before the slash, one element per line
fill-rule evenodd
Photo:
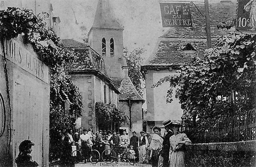
<path fill-rule="evenodd" d="M 5 40 L 6 59 L 21 67 L 23 70 L 31 73 L 38 79 L 49 83 L 48 67 L 37 58 L 32 47 L 25 46 L 17 39 Z"/>

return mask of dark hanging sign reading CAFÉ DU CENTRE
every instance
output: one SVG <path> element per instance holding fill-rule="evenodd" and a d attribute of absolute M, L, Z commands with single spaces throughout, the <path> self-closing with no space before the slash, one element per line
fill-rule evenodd
<path fill-rule="evenodd" d="M 163 27 L 192 27 L 189 3 L 160 3 Z"/>

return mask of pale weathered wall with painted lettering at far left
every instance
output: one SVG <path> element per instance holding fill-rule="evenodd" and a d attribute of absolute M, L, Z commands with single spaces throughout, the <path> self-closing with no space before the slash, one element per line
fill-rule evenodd
<path fill-rule="evenodd" d="M 4 137 L 0 138 L 2 146 L 0 156 L 4 160 L 0 163 L 9 162 L 8 165 L 16 166 L 14 159 L 18 156 L 19 144 L 21 141 L 29 139 L 35 143 L 31 154 L 33 160 L 38 162 L 40 166 L 48 166 L 50 91 L 48 67 L 37 58 L 31 45 L 23 44 L 20 36 L 17 39 L 5 41 L 4 52 L 7 58 L 12 112 L 9 113 L 7 110 L 7 127 Z M 2 56 L 1 51 L 0 93 L 4 96 L 5 107 L 8 109 Z M 11 127 L 8 122 L 10 116 Z M 10 129 L 12 129 L 11 145 L 9 154 L 6 156 Z M 7 164 L 3 166 L 5 165 Z"/>

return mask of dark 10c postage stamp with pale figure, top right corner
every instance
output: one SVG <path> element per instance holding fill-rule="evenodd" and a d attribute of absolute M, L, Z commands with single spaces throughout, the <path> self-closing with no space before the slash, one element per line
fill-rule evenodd
<path fill-rule="evenodd" d="M 238 0 L 236 29 L 256 32 L 256 0 Z"/>

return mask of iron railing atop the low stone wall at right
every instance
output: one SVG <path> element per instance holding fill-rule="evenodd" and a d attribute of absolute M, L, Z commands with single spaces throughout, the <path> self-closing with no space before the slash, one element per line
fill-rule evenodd
<path fill-rule="evenodd" d="M 256 140 L 256 112 L 225 118 L 225 121 L 208 123 L 200 128 L 183 124 L 181 132 L 185 133 L 192 143 L 222 143 Z"/>

